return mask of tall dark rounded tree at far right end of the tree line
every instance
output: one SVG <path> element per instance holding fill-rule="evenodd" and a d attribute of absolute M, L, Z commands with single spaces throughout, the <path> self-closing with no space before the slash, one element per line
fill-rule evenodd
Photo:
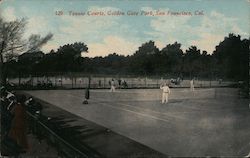
<path fill-rule="evenodd" d="M 249 40 L 230 33 L 216 46 L 213 56 L 222 76 L 235 80 L 248 78 Z"/>

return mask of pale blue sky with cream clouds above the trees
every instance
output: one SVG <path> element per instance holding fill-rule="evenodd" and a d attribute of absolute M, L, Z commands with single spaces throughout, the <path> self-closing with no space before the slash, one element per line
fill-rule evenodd
<path fill-rule="evenodd" d="M 250 33 L 250 0 L 0 0 L 0 15 L 26 18 L 26 39 L 53 33 L 45 53 L 83 42 L 86 57 L 132 55 L 149 40 L 159 49 L 177 41 L 183 51 L 195 45 L 211 54 L 229 33 Z"/>

